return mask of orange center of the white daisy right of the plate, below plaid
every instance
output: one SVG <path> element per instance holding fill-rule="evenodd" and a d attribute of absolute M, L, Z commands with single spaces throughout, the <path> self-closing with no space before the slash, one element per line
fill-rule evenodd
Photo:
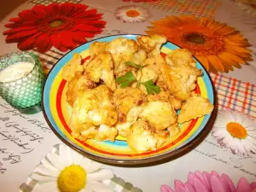
<path fill-rule="evenodd" d="M 227 131 L 230 135 L 239 139 L 244 139 L 247 137 L 247 130 L 242 125 L 236 122 L 230 122 L 227 124 Z"/>

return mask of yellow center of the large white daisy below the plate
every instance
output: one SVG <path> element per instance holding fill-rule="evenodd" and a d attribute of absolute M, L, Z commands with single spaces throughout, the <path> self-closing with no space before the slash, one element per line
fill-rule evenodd
<path fill-rule="evenodd" d="M 57 179 L 61 192 L 78 192 L 85 187 L 86 172 L 81 166 L 67 166 Z"/>

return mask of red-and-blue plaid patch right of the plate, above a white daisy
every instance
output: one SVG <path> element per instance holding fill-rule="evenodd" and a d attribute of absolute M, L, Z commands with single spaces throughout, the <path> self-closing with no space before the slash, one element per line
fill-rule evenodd
<path fill-rule="evenodd" d="M 256 85 L 211 73 L 218 108 L 231 108 L 256 118 Z"/>

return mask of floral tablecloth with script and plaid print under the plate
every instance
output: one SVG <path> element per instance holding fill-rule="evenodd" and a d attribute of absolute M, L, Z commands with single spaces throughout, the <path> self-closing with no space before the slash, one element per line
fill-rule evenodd
<path fill-rule="evenodd" d="M 66 2 L 72 4 L 49 5 Z M 255 191 L 256 3 L 241 2 L 30 0 L 2 20 L 0 55 L 32 51 L 48 73 L 68 50 L 90 39 L 165 34 L 187 46 L 210 72 L 218 94 L 217 122 L 199 146 L 176 160 L 132 168 L 104 165 L 115 175 L 113 185 L 123 186 L 116 191 Z M 28 177 L 61 141 L 43 113 L 19 113 L 2 98 L 0 108 L 1 191 L 31 191 L 35 183 Z M 230 122 L 246 132 L 223 129 Z"/>

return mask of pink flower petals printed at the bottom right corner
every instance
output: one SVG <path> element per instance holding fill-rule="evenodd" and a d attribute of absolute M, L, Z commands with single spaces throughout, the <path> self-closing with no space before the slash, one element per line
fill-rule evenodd
<path fill-rule="evenodd" d="M 175 180 L 174 189 L 162 185 L 160 192 L 256 192 L 256 183 L 241 177 L 235 186 L 226 174 L 217 172 L 189 172 L 188 181 Z"/>

